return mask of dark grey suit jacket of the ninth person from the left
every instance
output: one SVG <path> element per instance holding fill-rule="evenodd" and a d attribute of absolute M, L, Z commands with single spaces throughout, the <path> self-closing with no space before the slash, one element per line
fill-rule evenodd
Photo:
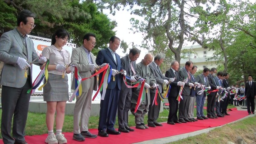
<path fill-rule="evenodd" d="M 185 68 L 180 69 L 179 77 L 180 77 L 179 81 L 184 81 L 186 78 L 189 78 L 188 72 L 186 71 Z M 183 87 L 182 95 L 191 94 L 191 89 L 189 89 L 189 83 L 192 83 L 192 82 L 188 79 L 188 82 Z"/>

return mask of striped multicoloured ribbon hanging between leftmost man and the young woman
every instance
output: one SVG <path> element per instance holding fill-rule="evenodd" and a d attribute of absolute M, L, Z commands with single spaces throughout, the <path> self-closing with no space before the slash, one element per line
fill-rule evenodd
<path fill-rule="evenodd" d="M 44 65 L 43 69 L 38 74 L 38 76 L 35 78 L 35 81 L 32 84 L 32 88 L 30 88 L 27 91 L 27 93 L 33 94 L 35 92 L 35 89 L 41 84 L 41 82 L 44 80 L 44 78 L 46 79 L 46 83 L 47 83 L 47 79 L 48 79 L 48 66 L 49 66 L 49 60 L 47 60 L 47 62 Z M 45 84 L 43 84 L 38 90 L 42 90 L 42 88 L 44 87 Z"/>

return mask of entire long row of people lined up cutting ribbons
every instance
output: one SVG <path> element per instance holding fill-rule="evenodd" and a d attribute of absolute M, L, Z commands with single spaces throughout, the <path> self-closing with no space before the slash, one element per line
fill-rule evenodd
<path fill-rule="evenodd" d="M 169 86 L 167 124 L 175 125 L 228 116 L 230 115 L 227 113 L 228 104 L 235 106 L 243 104 L 243 101 L 236 99 L 236 95 L 244 95 L 247 98 L 245 104 L 248 114 L 254 114 L 256 84 L 252 81 L 251 75 L 248 76 L 245 85 L 239 88 L 238 85 L 230 86 L 228 82 L 230 75 L 227 72 L 218 72 L 212 67 L 204 68 L 201 74 L 195 76 L 198 67 L 192 61 L 187 61 L 180 69 L 176 60 L 172 61 L 171 68 L 163 75 L 160 66 L 165 60 L 165 54 L 159 53 L 155 56 L 146 54 L 143 60 L 136 64 L 140 50 L 133 48 L 128 55 L 120 58 L 116 54 L 120 39 L 116 36 L 110 38 L 108 48 L 100 50 L 95 58 L 91 51 L 96 46 L 96 36 L 92 33 L 85 34 L 83 44 L 70 54 L 62 49 L 70 38 L 65 29 L 58 29 L 55 32 L 52 36 L 52 45 L 46 47 L 42 56 L 38 57 L 32 40 L 27 37 L 34 27 L 34 14 L 23 10 L 17 18 L 17 28 L 4 33 L 0 39 L 0 60 L 4 62 L 0 82 L 3 85 L 1 133 L 5 144 L 26 144 L 24 136 L 30 98 L 27 90 L 32 86 L 31 62 L 40 65 L 43 69 L 47 59 L 49 77 L 47 83 L 45 81 L 44 101 L 47 101 L 48 136 L 45 142 L 48 144 L 67 143 L 67 139 L 61 133 L 65 105 L 68 101 L 67 74 L 74 72 L 75 67 L 82 78 L 88 78 L 96 72 L 96 69 L 107 64 L 111 66 L 111 80 L 105 97 L 100 102 L 98 136 L 101 137 L 133 132 L 134 129 L 128 126 L 129 111 L 135 116 L 136 129 L 162 127 L 163 124 L 158 123 L 157 119 L 160 112 L 160 95 L 165 92 L 165 85 Z M 27 72 L 27 78 L 24 78 L 24 72 Z M 128 88 L 123 82 L 123 76 L 129 86 L 134 86 L 138 81 L 145 81 L 145 84 L 140 82 L 137 87 Z M 99 81 L 102 78 L 101 73 Z M 82 81 L 81 85 L 81 96 L 76 98 L 73 115 L 73 139 L 76 141 L 97 137 L 88 129 L 92 93 L 98 86 L 97 76 Z M 74 75 L 72 89 L 75 87 Z M 140 94 L 141 89 L 144 89 L 142 94 Z M 137 107 L 140 95 L 143 97 Z M 154 97 L 155 95 L 157 97 Z M 155 101 L 158 105 L 154 104 Z M 207 113 L 204 113 L 205 103 L 207 103 Z M 195 105 L 196 115 L 194 115 Z M 144 119 L 146 113 L 148 120 Z M 114 128 L 116 114 L 118 130 Z M 12 116 L 14 118 L 11 135 Z M 56 133 L 53 132 L 54 121 Z M 148 124 L 146 125 L 144 121 Z"/>

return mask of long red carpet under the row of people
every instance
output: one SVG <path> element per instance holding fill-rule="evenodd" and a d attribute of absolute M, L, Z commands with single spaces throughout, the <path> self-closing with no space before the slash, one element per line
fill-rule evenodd
<path fill-rule="evenodd" d="M 247 111 L 240 111 L 237 109 L 230 109 L 232 111 L 228 112 L 230 115 L 225 116 L 224 118 L 217 118 L 217 119 L 207 119 L 197 122 L 189 122 L 186 124 L 175 124 L 169 125 L 166 123 L 162 123 L 163 127 L 149 127 L 147 130 L 138 130 L 135 129 L 134 132 L 130 133 L 121 133 L 120 135 L 109 135 L 108 138 L 86 138 L 85 142 L 88 144 L 131 144 L 140 141 L 147 141 L 157 138 L 164 138 L 173 135 L 180 135 L 183 133 L 194 132 L 197 130 L 206 129 L 209 127 L 218 127 L 232 121 L 236 121 L 240 118 L 244 118 L 248 115 Z M 134 127 L 132 127 L 134 128 Z M 90 130 L 91 133 L 97 134 L 98 130 L 93 129 Z M 65 132 L 65 137 L 67 138 L 68 144 L 81 144 L 79 141 L 74 141 L 72 139 L 73 133 Z M 29 144 L 45 144 L 44 140 L 47 138 L 47 134 L 44 135 L 33 135 L 33 136 L 26 136 L 26 141 Z M 0 140 L 0 144 L 3 144 L 3 141 Z"/>

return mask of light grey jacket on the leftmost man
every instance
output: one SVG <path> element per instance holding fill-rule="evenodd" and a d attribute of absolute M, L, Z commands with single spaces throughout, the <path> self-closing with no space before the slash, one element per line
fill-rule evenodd
<path fill-rule="evenodd" d="M 4 62 L 0 80 L 1 85 L 16 88 L 25 85 L 27 80 L 27 78 L 24 78 L 25 70 L 20 69 L 17 60 L 19 57 L 29 60 L 29 62 L 38 59 L 34 43 L 29 37 L 26 37 L 26 47 L 27 53 L 24 51 L 24 45 L 16 28 L 1 36 L 0 61 Z M 34 64 L 39 65 L 38 60 Z M 32 72 L 30 72 L 30 80 L 32 86 Z"/>

